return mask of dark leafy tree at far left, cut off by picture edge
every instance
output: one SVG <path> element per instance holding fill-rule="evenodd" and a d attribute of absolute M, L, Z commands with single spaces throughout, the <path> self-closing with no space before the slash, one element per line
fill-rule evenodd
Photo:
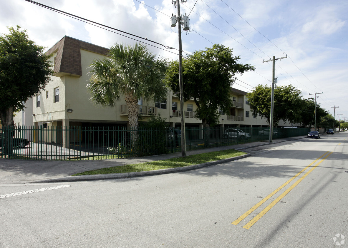
<path fill-rule="evenodd" d="M 26 30 L 9 27 L 0 36 L 0 119 L 4 128 L 4 153 L 12 154 L 13 114 L 24 109 L 26 100 L 40 90 L 53 74 L 45 47 L 29 39 Z"/>

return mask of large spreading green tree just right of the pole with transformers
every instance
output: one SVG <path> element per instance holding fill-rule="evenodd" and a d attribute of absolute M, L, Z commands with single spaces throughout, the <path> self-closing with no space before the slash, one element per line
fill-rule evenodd
<path fill-rule="evenodd" d="M 183 58 L 183 99 L 195 101 L 196 116 L 203 127 L 219 123 L 219 108 L 229 113 L 232 106 L 230 87 L 236 74 L 254 70 L 251 65 L 238 64 L 238 59 L 239 56 L 232 55 L 232 49 L 221 44 L 214 44 L 211 48 L 195 51 L 188 58 Z M 179 61 L 169 64 L 165 82 L 174 92 L 179 92 Z"/>

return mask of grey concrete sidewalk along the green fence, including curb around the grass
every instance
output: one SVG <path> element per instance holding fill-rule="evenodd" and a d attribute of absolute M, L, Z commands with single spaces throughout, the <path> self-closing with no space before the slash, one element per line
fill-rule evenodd
<path fill-rule="evenodd" d="M 306 138 L 291 137 L 284 139 L 277 139 L 272 143 L 265 141 L 258 141 L 246 144 L 237 144 L 233 146 L 213 147 L 201 150 L 187 151 L 187 156 L 193 154 L 201 154 L 211 151 L 237 149 L 243 150 L 258 146 L 267 146 L 268 144 L 275 144 L 284 141 L 297 140 Z M 213 162 L 208 162 L 200 165 L 191 165 L 185 167 L 145 171 L 145 172 L 133 172 L 133 173 L 117 173 L 117 174 L 100 174 L 100 175 L 85 175 L 85 176 L 71 176 L 76 173 L 90 171 L 100 168 L 121 166 L 126 164 L 135 164 L 156 160 L 164 160 L 168 158 L 181 157 L 181 152 L 174 154 L 156 155 L 150 157 L 138 157 L 138 158 L 120 158 L 109 160 L 81 160 L 81 161 L 46 161 L 46 160 L 11 160 L 0 159 L 0 184 L 18 184 L 18 183 L 47 183 L 47 182 L 71 182 L 71 181 L 87 181 L 87 180 L 102 180 L 102 179 L 117 179 L 132 176 L 145 176 L 155 174 L 165 174 L 180 171 L 193 170 L 197 168 L 207 167 L 215 164 L 226 163 L 232 160 L 240 159 L 249 154 L 228 158 Z"/>

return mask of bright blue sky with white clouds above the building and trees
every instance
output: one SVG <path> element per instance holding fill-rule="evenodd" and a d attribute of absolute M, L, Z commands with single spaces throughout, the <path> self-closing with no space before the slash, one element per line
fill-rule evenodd
<path fill-rule="evenodd" d="M 271 85 L 272 62 L 263 60 L 287 56 L 276 60 L 277 85 L 298 88 L 304 99 L 323 92 L 317 94 L 317 103 L 331 115 L 335 110 L 336 119 L 348 121 L 348 1 L 178 1 L 181 14 L 186 13 L 190 21 L 189 31 L 181 29 L 183 56 L 216 43 L 232 48 L 240 63 L 255 66 L 254 72 L 237 75 L 232 86 L 246 92 L 259 84 Z M 67 35 L 106 48 L 145 42 L 159 57 L 179 57 L 178 28 L 170 25 L 178 10 L 172 0 L 36 2 L 139 38 L 25 0 L 0 0 L 0 33 L 20 25 L 31 40 L 47 49 Z"/>

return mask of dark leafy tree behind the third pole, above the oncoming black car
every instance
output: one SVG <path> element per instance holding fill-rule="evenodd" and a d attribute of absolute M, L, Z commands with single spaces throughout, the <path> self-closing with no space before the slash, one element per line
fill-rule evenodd
<path fill-rule="evenodd" d="M 301 110 L 301 122 L 303 124 L 303 127 L 311 126 L 314 123 L 315 99 L 303 99 L 302 107 L 303 109 Z M 321 108 L 319 104 L 317 104 L 316 111 L 317 121 L 319 121 L 321 117 L 329 114 L 329 112 Z"/>

